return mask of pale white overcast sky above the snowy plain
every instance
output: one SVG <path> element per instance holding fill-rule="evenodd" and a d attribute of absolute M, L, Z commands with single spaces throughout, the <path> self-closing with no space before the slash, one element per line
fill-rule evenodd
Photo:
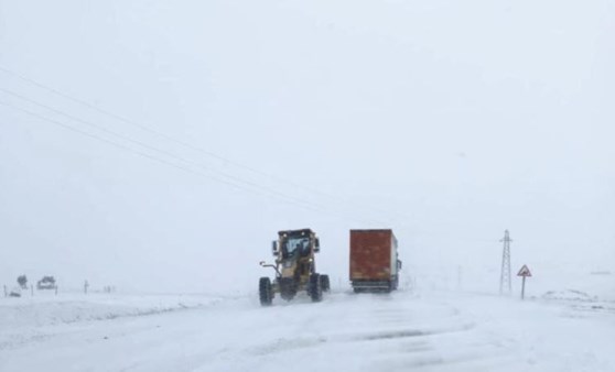
<path fill-rule="evenodd" d="M 304 227 L 334 281 L 350 228 L 615 270 L 614 35 L 607 0 L 0 0 L 0 282 L 256 288 Z"/>

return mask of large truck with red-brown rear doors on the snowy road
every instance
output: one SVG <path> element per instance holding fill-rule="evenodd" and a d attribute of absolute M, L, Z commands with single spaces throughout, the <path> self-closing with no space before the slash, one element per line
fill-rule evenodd
<path fill-rule="evenodd" d="M 400 270 L 392 230 L 350 230 L 350 283 L 355 293 L 397 289 Z"/>

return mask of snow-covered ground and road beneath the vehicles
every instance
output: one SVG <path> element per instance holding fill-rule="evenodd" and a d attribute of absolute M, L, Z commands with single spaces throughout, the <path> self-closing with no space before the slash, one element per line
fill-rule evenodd
<path fill-rule="evenodd" d="M 118 314 L 69 322 L 34 321 L 57 304 L 19 305 L 26 325 L 15 300 L 0 303 L 3 372 L 615 371 L 612 303 L 334 293 L 319 304 L 209 298 L 133 311 L 116 299 Z M 96 313 L 85 300 L 67 306 Z"/>

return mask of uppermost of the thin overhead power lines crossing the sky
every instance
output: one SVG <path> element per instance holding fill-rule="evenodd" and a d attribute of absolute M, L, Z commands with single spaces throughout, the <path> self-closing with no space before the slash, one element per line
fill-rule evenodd
<path fill-rule="evenodd" d="M 62 97 L 62 98 L 64 98 L 64 99 L 67 99 L 67 100 L 71 100 L 71 101 L 73 101 L 73 102 L 76 102 L 76 103 L 78 103 L 78 105 L 82 105 L 82 106 L 84 106 L 84 107 L 87 107 L 87 108 L 89 108 L 89 109 L 91 109 L 91 110 L 94 110 L 94 111 L 96 111 L 96 112 L 98 112 L 98 113 L 108 116 L 108 117 L 114 118 L 114 119 L 116 119 L 116 120 L 119 120 L 119 121 L 121 121 L 121 122 L 123 122 L 123 123 L 126 123 L 126 124 L 129 124 L 129 125 L 139 128 L 139 129 L 141 129 L 141 130 L 143 130 L 143 131 L 145 131 L 145 132 L 149 132 L 149 133 L 151 133 L 151 134 L 158 135 L 158 136 L 160 136 L 160 138 L 162 138 L 162 139 L 164 139 L 164 140 L 166 140 L 166 141 L 171 141 L 171 142 L 173 142 L 173 143 L 176 143 L 176 144 L 179 144 L 179 145 L 181 145 L 181 146 L 184 146 L 185 149 L 190 149 L 190 150 L 192 150 L 192 151 L 196 151 L 196 152 L 202 153 L 202 154 L 204 154 L 204 155 L 206 155 L 206 156 L 216 158 L 216 160 L 218 160 L 218 161 L 223 161 L 223 162 L 225 162 L 225 163 L 227 163 L 227 164 L 230 164 L 230 165 L 233 165 L 233 166 L 236 166 L 236 167 L 238 167 L 238 168 L 242 168 L 242 169 L 245 169 L 245 171 L 252 172 L 252 173 L 255 173 L 255 174 L 258 174 L 258 175 L 260 175 L 260 176 L 268 177 L 268 178 L 273 179 L 273 180 L 276 180 L 276 182 L 283 183 L 283 184 L 287 184 L 287 185 L 290 185 L 290 186 L 293 186 L 293 187 L 296 187 L 296 188 L 301 188 L 301 189 L 306 190 L 306 192 L 312 193 L 312 194 L 317 194 L 317 195 L 324 196 L 324 197 L 328 198 L 330 200 L 334 200 L 335 203 L 337 203 L 337 204 L 339 204 L 339 205 L 344 204 L 343 201 L 339 200 L 339 197 L 330 195 L 330 194 L 324 193 L 324 192 L 322 192 L 322 190 L 317 190 L 317 189 L 315 189 L 315 188 L 312 188 L 312 187 L 309 187 L 309 186 L 305 186 L 305 185 L 302 185 L 302 184 L 299 184 L 299 183 L 291 182 L 291 180 L 289 180 L 289 179 L 279 177 L 279 176 L 277 176 L 277 175 L 269 174 L 269 173 L 267 173 L 267 172 L 262 172 L 262 171 L 260 171 L 260 169 L 257 169 L 257 168 L 255 168 L 255 167 L 248 166 L 248 165 L 246 165 L 246 164 L 242 164 L 242 163 L 239 163 L 239 162 L 235 162 L 235 161 L 233 161 L 233 160 L 229 160 L 228 157 L 222 156 L 222 155 L 219 155 L 219 154 L 217 154 L 217 153 L 214 153 L 214 152 L 212 152 L 212 151 L 207 151 L 207 150 L 204 150 L 204 149 L 202 149 L 202 147 L 195 146 L 195 145 L 193 145 L 193 144 L 191 144 L 191 143 L 188 143 L 188 142 L 185 142 L 185 141 L 175 139 L 175 138 L 173 138 L 173 136 L 171 136 L 171 135 L 169 135 L 169 134 L 166 134 L 166 133 L 163 133 L 163 132 L 161 132 L 161 131 L 151 129 L 151 128 L 148 127 L 148 125 L 143 125 L 143 124 L 139 123 L 139 122 L 136 122 L 136 121 L 133 121 L 133 120 L 127 119 L 127 118 L 125 118 L 125 117 L 122 117 L 122 116 L 119 116 L 119 114 L 117 114 L 117 113 L 114 113 L 114 112 L 111 112 L 111 111 L 101 109 L 101 108 L 99 108 L 99 107 L 97 107 L 97 106 L 95 106 L 95 105 L 91 105 L 91 103 L 89 103 L 89 102 L 83 100 L 83 99 L 75 98 L 75 97 L 73 97 L 73 96 L 71 96 L 71 95 L 67 95 L 67 94 L 65 94 L 65 92 L 62 92 L 62 91 L 60 91 L 60 90 L 57 90 L 57 89 L 55 89 L 55 88 L 53 88 L 53 87 L 46 86 L 46 85 L 44 85 L 44 84 L 42 84 L 42 83 L 40 83 L 40 81 L 37 81 L 37 80 L 34 80 L 34 79 L 32 79 L 32 78 L 30 78 L 30 77 L 26 77 L 26 76 L 23 76 L 23 75 L 21 75 L 21 74 L 19 74 L 19 73 L 15 73 L 15 72 L 13 72 L 13 70 L 10 70 L 10 69 L 8 69 L 8 68 L 6 68 L 6 67 L 3 67 L 3 66 L 0 66 L 0 70 L 4 72 L 4 73 L 8 74 L 8 75 L 14 76 L 14 77 L 17 77 L 17 78 L 19 78 L 19 79 L 21 79 L 21 80 L 23 80 L 23 81 L 26 81 L 26 83 L 29 83 L 29 84 L 31 84 L 31 85 L 34 85 L 34 86 L 36 86 L 36 87 L 39 87 L 39 88 L 41 88 L 41 89 L 47 90 L 47 91 L 50 91 L 50 92 L 52 92 L 52 94 L 54 94 L 54 95 L 56 95 L 56 96 L 60 96 L 60 97 Z M 356 206 L 355 204 L 353 204 L 353 208 L 356 208 L 356 207 L 357 207 L 357 206 Z M 378 214 L 386 214 L 386 215 L 390 215 L 390 214 L 391 214 L 391 210 L 384 210 L 384 209 L 376 208 L 376 207 L 373 207 L 373 206 L 365 206 L 365 205 L 364 205 L 364 206 L 358 206 L 358 207 L 364 208 L 364 209 L 369 209 L 369 210 L 373 210 L 373 211 L 377 211 Z M 398 212 L 396 212 L 396 211 L 392 211 L 392 212 L 399 215 L 400 217 L 404 217 L 404 218 L 406 218 L 406 216 L 402 216 L 402 215 L 400 215 L 400 214 L 398 214 Z"/>

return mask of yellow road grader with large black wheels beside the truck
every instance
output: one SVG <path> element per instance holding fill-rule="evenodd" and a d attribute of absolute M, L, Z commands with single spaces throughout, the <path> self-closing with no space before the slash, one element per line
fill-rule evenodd
<path fill-rule="evenodd" d="M 276 294 L 285 300 L 305 291 L 312 302 L 320 302 L 323 292 L 330 291 L 327 275 L 316 273 L 315 253 L 320 251 L 320 241 L 311 229 L 285 230 L 278 232 L 278 240 L 271 244 L 276 262 L 260 262 L 263 267 L 272 267 L 276 278 L 261 277 L 258 283 L 259 298 L 262 306 L 272 304 Z"/>

